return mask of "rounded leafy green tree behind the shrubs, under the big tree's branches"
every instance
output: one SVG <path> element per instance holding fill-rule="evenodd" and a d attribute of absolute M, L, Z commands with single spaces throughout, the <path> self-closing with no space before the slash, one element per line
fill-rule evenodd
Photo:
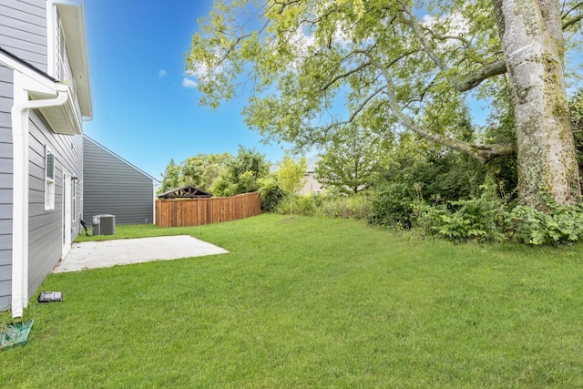
<path fill-rule="evenodd" d="M 347 126 L 324 149 L 315 177 L 324 188 L 356 194 L 378 182 L 388 164 L 388 147 L 372 131 Z"/>

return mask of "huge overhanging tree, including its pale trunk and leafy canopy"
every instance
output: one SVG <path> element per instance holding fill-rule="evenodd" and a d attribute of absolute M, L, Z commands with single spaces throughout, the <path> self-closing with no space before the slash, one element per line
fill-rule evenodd
<path fill-rule="evenodd" d="M 217 0 L 187 68 L 211 107 L 251 77 L 248 125 L 298 148 L 360 118 L 482 163 L 516 154 L 520 201 L 544 209 L 544 188 L 559 204 L 580 192 L 564 53 L 582 17 L 578 0 Z M 511 97 L 516 136 L 450 127 L 470 92 Z"/>

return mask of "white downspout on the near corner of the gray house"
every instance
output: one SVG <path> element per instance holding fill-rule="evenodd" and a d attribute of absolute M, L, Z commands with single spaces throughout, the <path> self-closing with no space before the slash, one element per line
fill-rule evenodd
<path fill-rule="evenodd" d="M 15 72 L 15 77 L 18 73 Z M 16 81 L 16 80 L 15 80 Z M 15 82 L 15 85 L 17 83 Z M 12 210 L 12 317 L 22 318 L 28 304 L 28 111 L 62 106 L 68 99 L 65 88 L 57 85 L 56 97 L 28 100 L 21 89 L 11 109 L 13 144 L 13 210 Z M 26 96 L 25 96 L 26 95 Z"/>

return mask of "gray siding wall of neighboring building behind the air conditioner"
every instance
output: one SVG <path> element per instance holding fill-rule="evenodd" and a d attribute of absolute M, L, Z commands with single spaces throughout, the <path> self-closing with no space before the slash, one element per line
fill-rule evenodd
<path fill-rule="evenodd" d="M 151 177 L 85 137 L 83 218 L 116 215 L 116 224 L 151 224 L 154 183 Z"/>

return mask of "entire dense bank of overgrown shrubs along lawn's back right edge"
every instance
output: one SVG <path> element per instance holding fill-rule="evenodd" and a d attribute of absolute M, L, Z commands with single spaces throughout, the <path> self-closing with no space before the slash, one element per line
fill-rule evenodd
<path fill-rule="evenodd" d="M 557 245 L 578 241 L 583 234 L 583 204 L 559 205 L 550 196 L 546 210 L 517 205 L 505 190 L 513 176 L 482 172 L 469 175 L 464 156 L 447 153 L 423 160 L 402 160 L 391 179 L 358 196 L 333 191 L 302 196 L 295 213 L 306 216 L 367 219 L 396 230 L 414 230 L 449 241 L 513 242 Z M 280 202 L 272 209 L 289 212 Z"/>

